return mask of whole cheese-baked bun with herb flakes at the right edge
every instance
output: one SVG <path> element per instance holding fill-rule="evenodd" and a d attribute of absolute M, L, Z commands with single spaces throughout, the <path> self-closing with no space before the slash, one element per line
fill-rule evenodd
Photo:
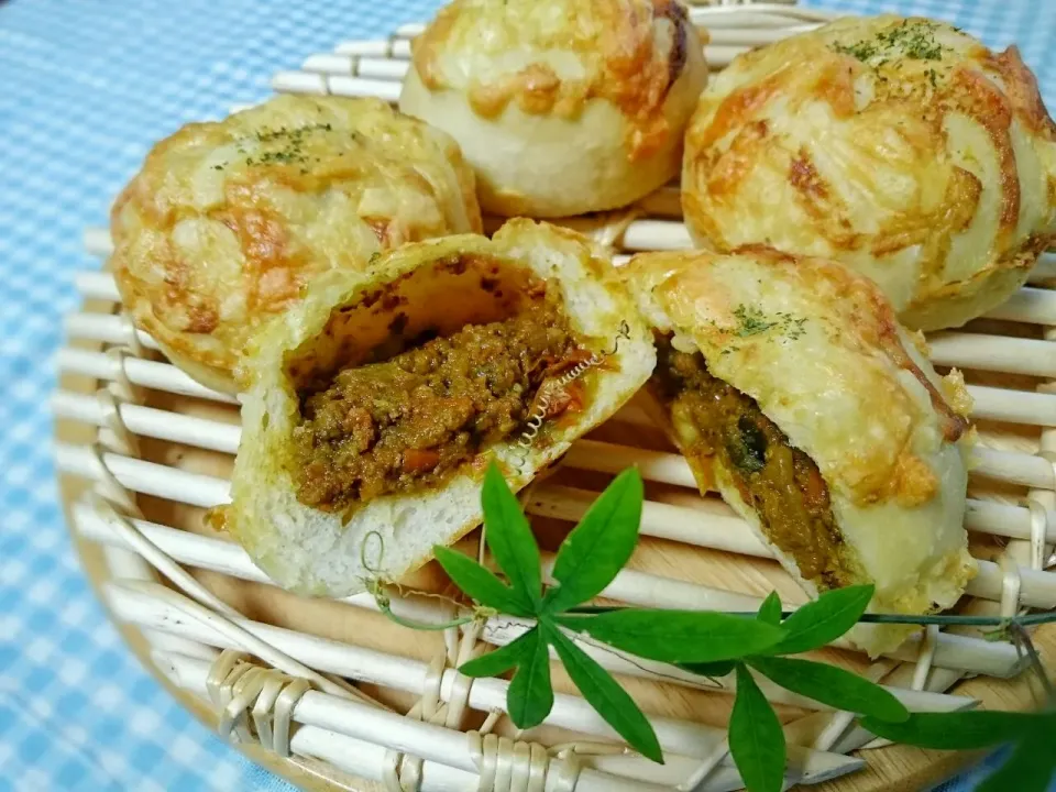
<path fill-rule="evenodd" d="M 715 77 L 686 133 L 685 222 L 711 250 L 836 258 L 908 327 L 957 327 L 1022 286 L 1053 238 L 1054 132 L 1014 46 L 842 19 Z"/>

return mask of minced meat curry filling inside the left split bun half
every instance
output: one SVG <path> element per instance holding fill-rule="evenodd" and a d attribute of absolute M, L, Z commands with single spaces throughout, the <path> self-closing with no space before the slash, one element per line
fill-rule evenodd
<path fill-rule="evenodd" d="M 301 503 L 341 510 L 435 486 L 522 431 L 540 386 L 582 353 L 554 292 L 539 284 L 505 321 L 468 324 L 302 393 L 294 431 Z M 560 410 L 578 407 L 579 391 L 563 396 Z"/>

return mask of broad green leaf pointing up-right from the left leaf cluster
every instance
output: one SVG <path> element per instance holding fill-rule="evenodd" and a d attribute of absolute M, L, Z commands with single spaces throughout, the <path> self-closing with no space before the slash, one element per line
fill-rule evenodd
<path fill-rule="evenodd" d="M 548 613 L 592 600 L 613 582 L 638 542 L 644 488 L 636 468 L 620 473 L 561 542 L 553 563 L 559 585 L 544 598 Z"/>

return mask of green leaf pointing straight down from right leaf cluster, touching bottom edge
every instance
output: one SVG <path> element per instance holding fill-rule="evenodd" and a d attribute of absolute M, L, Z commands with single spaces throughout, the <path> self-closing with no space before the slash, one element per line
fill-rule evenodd
<path fill-rule="evenodd" d="M 729 752 L 748 792 L 781 792 L 784 732 L 770 702 L 743 663 L 737 666 L 737 697 L 729 715 Z"/>

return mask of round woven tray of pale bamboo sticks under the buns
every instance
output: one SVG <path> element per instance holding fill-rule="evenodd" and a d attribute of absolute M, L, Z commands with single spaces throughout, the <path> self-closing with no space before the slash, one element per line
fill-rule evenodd
<path fill-rule="evenodd" d="M 827 14 L 781 3 L 694 8 L 713 68 L 739 52 L 809 30 Z M 278 91 L 377 96 L 394 101 L 411 24 L 383 41 L 350 41 L 275 76 Z M 630 209 L 569 226 L 637 251 L 689 248 L 678 185 Z M 86 233 L 106 258 L 109 235 Z M 980 562 L 966 612 L 1011 616 L 1056 607 L 1047 569 L 1056 542 L 1056 254 L 1000 308 L 928 338 L 941 369 L 957 366 L 975 398 L 981 448 L 966 527 Z M 741 787 L 726 746 L 733 682 L 581 646 L 635 696 L 664 749 L 657 766 L 627 750 L 554 664 L 546 723 L 518 733 L 504 716 L 507 682 L 455 668 L 525 629 L 513 618 L 422 632 L 378 613 L 374 598 L 307 600 L 279 590 L 243 550 L 204 521 L 228 499 L 238 406 L 169 364 L 121 312 L 110 275 L 77 278 L 82 307 L 66 317 L 58 353 L 57 468 L 86 571 L 146 668 L 189 710 L 250 756 L 318 790 L 659 789 Z M 719 499 L 701 497 L 683 461 L 634 404 L 575 443 L 561 469 L 528 494 L 543 549 L 553 550 L 610 476 L 637 464 L 650 483 L 642 538 L 604 597 L 649 607 L 745 610 L 777 590 L 804 594 Z M 463 540 L 479 550 L 480 538 Z M 543 560 L 547 561 L 544 553 Z M 550 557 L 552 558 L 552 557 Z M 452 616 L 435 564 L 391 592 L 394 612 Z M 1034 641 L 1056 651 L 1056 627 Z M 913 710 L 1030 705 L 1010 645 L 968 628 L 922 630 L 876 662 L 837 644 L 820 659 L 883 682 Z M 971 759 L 877 740 L 846 713 L 765 689 L 789 739 L 787 780 L 825 790 L 919 790 Z"/>

